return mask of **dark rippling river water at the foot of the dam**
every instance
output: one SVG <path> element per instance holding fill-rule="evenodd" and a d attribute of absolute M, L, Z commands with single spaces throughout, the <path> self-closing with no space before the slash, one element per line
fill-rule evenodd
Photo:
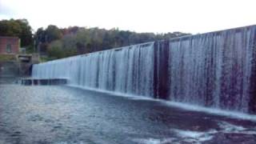
<path fill-rule="evenodd" d="M 256 122 L 67 86 L 0 85 L 0 143 L 256 143 Z"/>

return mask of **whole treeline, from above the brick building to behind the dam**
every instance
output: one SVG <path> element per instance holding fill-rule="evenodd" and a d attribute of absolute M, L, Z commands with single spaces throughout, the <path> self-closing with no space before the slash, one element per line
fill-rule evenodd
<path fill-rule="evenodd" d="M 187 34 L 181 32 L 136 33 L 117 28 L 106 30 L 98 27 L 78 26 L 58 28 L 58 26 L 50 25 L 46 29 L 39 28 L 33 35 L 26 19 L 10 19 L 0 21 L 0 35 L 17 36 L 21 38 L 22 46 L 30 48 L 30 51 L 36 50 L 34 52 L 40 52 L 47 60 L 51 60 L 142 42 L 176 38 Z"/>

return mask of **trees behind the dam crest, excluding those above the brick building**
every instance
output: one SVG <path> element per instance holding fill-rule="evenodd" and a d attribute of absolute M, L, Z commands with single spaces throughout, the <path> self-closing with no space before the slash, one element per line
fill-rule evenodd
<path fill-rule="evenodd" d="M 78 26 L 60 29 L 57 26 L 50 25 L 45 30 L 38 29 L 34 38 L 41 52 L 48 55 L 50 59 L 54 59 L 184 35 L 187 34 L 181 32 L 166 34 L 135 33 L 129 30 L 105 30 L 97 27 Z"/>

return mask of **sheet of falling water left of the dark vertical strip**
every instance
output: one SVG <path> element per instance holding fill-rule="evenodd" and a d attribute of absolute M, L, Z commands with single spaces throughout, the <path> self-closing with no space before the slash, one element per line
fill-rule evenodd
<path fill-rule="evenodd" d="M 71 85 L 153 97 L 154 42 L 63 58 L 33 67 L 34 78 L 68 78 Z"/>

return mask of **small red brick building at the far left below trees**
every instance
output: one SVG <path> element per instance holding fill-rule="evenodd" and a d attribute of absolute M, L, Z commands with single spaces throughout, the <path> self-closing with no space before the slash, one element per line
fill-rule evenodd
<path fill-rule="evenodd" d="M 19 47 L 19 38 L 0 36 L 0 54 L 18 54 Z"/>

